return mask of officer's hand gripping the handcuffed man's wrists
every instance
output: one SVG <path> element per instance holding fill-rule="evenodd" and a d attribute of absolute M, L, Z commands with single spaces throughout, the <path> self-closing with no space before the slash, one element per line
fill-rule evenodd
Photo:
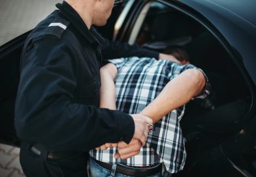
<path fill-rule="evenodd" d="M 139 139 L 142 143 L 142 146 L 146 143 L 146 140 L 148 139 L 148 124 L 152 124 L 153 120 L 149 118 L 148 116 L 144 115 L 131 115 L 133 117 L 133 120 L 135 121 L 135 133 L 133 135 L 133 138 Z"/>

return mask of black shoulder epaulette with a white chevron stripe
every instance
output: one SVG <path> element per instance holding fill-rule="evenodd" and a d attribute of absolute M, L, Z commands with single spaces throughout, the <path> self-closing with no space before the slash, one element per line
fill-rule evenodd
<path fill-rule="evenodd" d="M 48 25 L 44 34 L 54 35 L 58 38 L 61 38 L 61 35 L 69 26 L 70 21 L 65 20 L 64 18 L 55 18 L 52 23 Z"/>

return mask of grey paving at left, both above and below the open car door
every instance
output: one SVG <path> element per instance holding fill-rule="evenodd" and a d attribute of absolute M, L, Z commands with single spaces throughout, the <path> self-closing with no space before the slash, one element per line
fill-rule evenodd
<path fill-rule="evenodd" d="M 33 29 L 61 0 L 0 0 L 0 46 Z M 0 144 L 0 177 L 24 176 L 20 148 Z"/>

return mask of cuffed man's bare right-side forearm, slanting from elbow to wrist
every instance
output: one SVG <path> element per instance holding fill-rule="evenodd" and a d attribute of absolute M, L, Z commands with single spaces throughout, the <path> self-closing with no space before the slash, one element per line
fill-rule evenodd
<path fill-rule="evenodd" d="M 169 81 L 157 98 L 140 114 L 149 116 L 155 123 L 170 111 L 189 102 L 193 96 L 197 96 L 204 88 L 205 82 L 204 74 L 199 70 L 185 70 Z"/>

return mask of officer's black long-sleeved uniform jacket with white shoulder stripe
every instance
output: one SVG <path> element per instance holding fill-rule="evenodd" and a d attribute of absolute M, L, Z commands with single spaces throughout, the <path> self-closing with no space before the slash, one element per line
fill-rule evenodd
<path fill-rule="evenodd" d="M 134 122 L 99 109 L 99 68 L 104 59 L 157 57 L 139 46 L 109 42 L 65 1 L 29 34 L 21 57 L 15 126 L 22 141 L 48 150 L 86 151 L 131 141 Z"/>

